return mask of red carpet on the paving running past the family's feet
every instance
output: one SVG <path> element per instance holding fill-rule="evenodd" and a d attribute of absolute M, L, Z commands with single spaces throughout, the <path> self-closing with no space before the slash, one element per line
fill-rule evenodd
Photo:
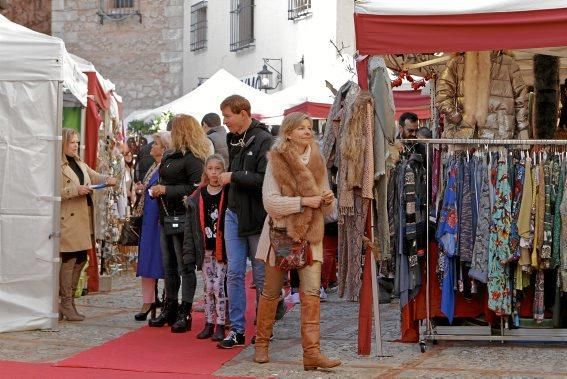
<path fill-rule="evenodd" d="M 246 278 L 246 342 L 254 335 L 255 290 L 249 289 L 252 275 Z M 58 362 L 58 367 L 82 367 L 149 373 L 211 375 L 242 348 L 219 349 L 216 342 L 198 340 L 204 313 L 193 313 L 192 331 L 174 334 L 169 327 L 144 326 L 113 341 Z"/>

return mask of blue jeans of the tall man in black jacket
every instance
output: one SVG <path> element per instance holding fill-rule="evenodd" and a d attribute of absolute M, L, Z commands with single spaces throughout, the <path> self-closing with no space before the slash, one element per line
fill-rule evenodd
<path fill-rule="evenodd" d="M 246 327 L 246 259 L 252 261 L 252 277 L 256 284 L 256 304 L 264 288 L 264 262 L 255 259 L 260 235 L 238 236 L 238 216 L 227 209 L 224 220 L 224 239 L 228 258 L 226 275 L 229 317 L 232 330 L 244 333 Z"/>

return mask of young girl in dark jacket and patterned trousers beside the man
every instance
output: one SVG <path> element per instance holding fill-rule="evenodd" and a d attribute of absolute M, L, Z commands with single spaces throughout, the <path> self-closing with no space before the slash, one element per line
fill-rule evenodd
<path fill-rule="evenodd" d="M 224 246 L 224 211 L 227 191 L 219 182 L 225 171 L 224 159 L 219 154 L 205 161 L 201 185 L 187 199 L 183 260 L 203 272 L 205 283 L 205 328 L 199 339 L 212 336 L 213 341 L 224 338 L 226 314 L 226 252 Z M 216 328 L 215 328 L 216 319 Z"/>

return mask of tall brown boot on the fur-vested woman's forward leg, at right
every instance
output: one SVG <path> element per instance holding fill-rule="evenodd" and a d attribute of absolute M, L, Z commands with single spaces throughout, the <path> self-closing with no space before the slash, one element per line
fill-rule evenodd
<path fill-rule="evenodd" d="M 339 366 L 341 361 L 329 359 L 321 354 L 319 296 L 299 294 L 301 299 L 301 345 L 303 346 L 303 368 L 305 371 Z"/>

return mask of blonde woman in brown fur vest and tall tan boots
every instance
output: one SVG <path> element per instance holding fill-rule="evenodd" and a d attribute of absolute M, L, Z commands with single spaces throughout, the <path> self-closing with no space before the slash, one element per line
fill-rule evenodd
<path fill-rule="evenodd" d="M 313 139 L 313 121 L 303 113 L 291 113 L 282 122 L 279 136 L 268 155 L 262 187 L 268 217 L 258 243 L 256 259 L 265 262 L 265 281 L 258 305 L 254 361 L 269 361 L 268 344 L 276 308 L 287 272 L 275 267 L 270 246 L 269 219 L 285 227 L 295 240 L 309 241 L 312 263 L 298 270 L 301 281 L 301 344 L 305 370 L 341 364 L 321 354 L 319 348 L 319 288 L 323 262 L 324 216 L 333 212 L 336 200 L 329 189 L 327 169 Z"/>

